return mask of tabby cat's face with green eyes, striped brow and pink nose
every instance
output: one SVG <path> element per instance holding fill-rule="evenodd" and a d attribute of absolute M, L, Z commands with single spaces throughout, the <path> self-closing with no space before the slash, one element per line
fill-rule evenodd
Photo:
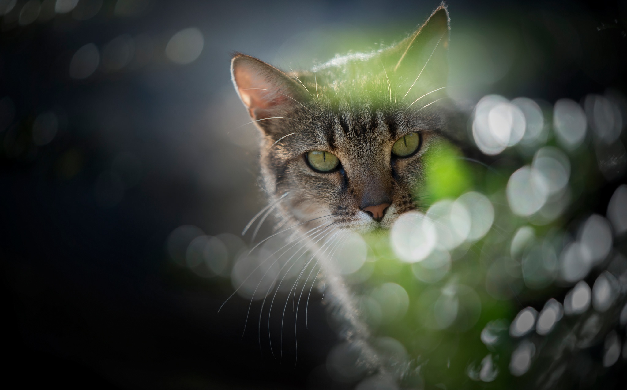
<path fill-rule="evenodd" d="M 320 217 L 369 232 L 419 207 L 421 160 L 438 140 L 439 118 L 361 104 L 361 110 L 319 108 L 325 115 L 309 115 L 308 131 L 287 136 L 278 148 L 266 141 L 262 164 L 273 179 L 266 187 L 288 192 L 281 209 L 298 222 Z"/>

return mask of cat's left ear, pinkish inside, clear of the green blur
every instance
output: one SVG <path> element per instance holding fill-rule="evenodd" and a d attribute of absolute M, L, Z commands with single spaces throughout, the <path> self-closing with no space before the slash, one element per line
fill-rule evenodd
<path fill-rule="evenodd" d="M 304 99 L 299 85 L 279 69 L 245 54 L 235 54 L 231 77 L 253 120 L 282 116 Z"/>

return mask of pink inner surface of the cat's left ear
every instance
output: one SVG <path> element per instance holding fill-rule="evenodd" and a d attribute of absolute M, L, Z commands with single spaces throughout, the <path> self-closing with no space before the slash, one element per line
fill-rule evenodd
<path fill-rule="evenodd" d="M 268 110 L 287 100 L 280 91 L 280 85 L 270 83 L 254 66 L 238 66 L 234 78 L 241 100 L 255 120 L 269 118 L 272 115 Z"/>

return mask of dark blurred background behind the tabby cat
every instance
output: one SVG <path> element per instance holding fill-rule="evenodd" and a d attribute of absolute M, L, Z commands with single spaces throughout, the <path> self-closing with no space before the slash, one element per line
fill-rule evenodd
<path fill-rule="evenodd" d="M 0 0 L 3 381 L 330 388 L 319 295 L 297 365 L 293 346 L 273 359 L 255 326 L 242 337 L 247 300 L 217 314 L 230 280 L 178 264 L 168 237 L 194 225 L 236 247 L 224 233 L 265 205 L 233 51 L 309 67 L 392 43 L 438 4 Z M 625 92 L 624 1 L 448 4 L 459 101 Z"/>

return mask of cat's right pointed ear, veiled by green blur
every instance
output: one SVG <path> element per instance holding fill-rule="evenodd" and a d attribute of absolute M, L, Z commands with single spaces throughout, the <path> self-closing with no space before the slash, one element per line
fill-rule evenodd
<path fill-rule="evenodd" d="M 446 86 L 448 40 L 448 11 L 440 6 L 413 34 L 382 53 L 401 95 L 411 98 Z"/>

